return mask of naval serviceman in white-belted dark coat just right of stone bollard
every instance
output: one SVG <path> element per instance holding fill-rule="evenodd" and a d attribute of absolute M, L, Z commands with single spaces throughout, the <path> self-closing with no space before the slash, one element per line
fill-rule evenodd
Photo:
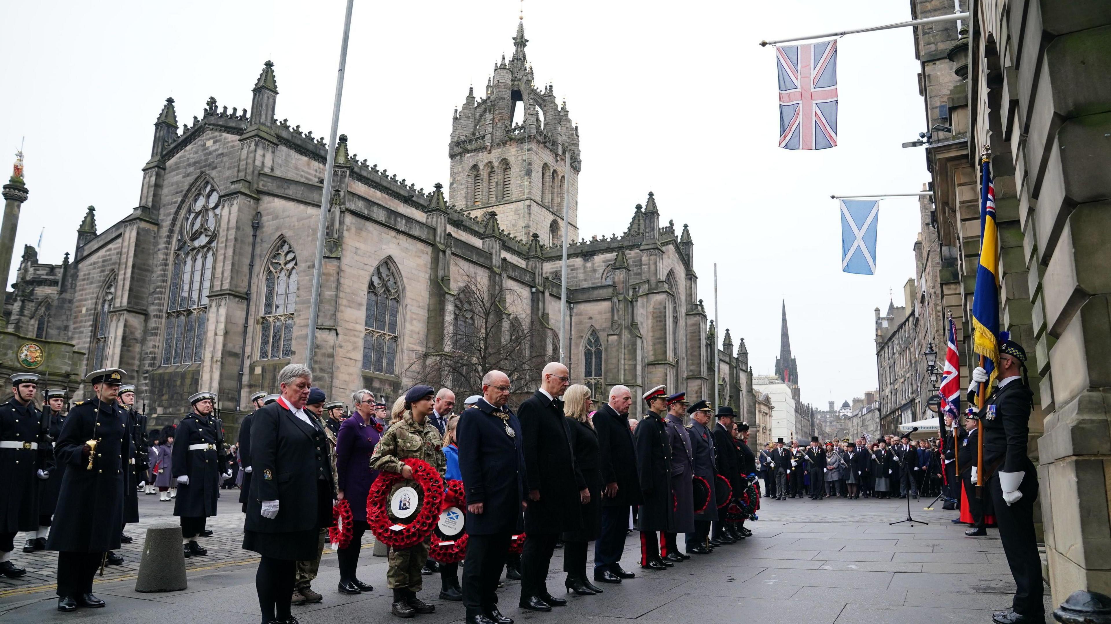
<path fill-rule="evenodd" d="M 204 521 L 216 515 L 224 462 L 223 432 L 212 416 L 216 394 L 198 392 L 189 397 L 193 413 L 181 419 L 173 439 L 172 479 L 178 483 L 173 515 L 181 517 L 181 537 L 186 556 L 207 555 L 197 543 Z"/>

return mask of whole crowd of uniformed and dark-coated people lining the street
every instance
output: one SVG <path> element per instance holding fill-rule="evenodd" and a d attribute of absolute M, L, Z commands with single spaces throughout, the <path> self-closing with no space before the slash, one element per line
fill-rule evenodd
<path fill-rule="evenodd" d="M 762 476 L 767 496 L 777 501 L 915 496 L 943 489 L 947 505 L 960 501 L 962 520 L 970 513 L 970 534 L 983 534 L 992 517 L 999 524 L 1019 592 L 1014 610 L 997 614 L 997 622 L 1031 622 L 1037 618 L 1027 614 L 1040 608 L 1041 580 L 1032 525 L 1037 477 L 1024 446 L 1029 389 L 1012 383 L 1024 361 L 1021 348 L 1008 342 L 1002 349 L 999 390 L 970 413 L 963 434 L 937 443 L 889 436 L 824 446 L 815 436 L 805 449 L 780 439 L 758 454 L 750 450 L 748 424 L 728 405 L 714 410 L 707 400 L 690 402 L 660 385 L 640 397 L 644 414 L 637 419 L 628 388 L 614 385 L 603 403 L 587 386 L 570 384 L 558 362 L 543 369 L 540 388 L 516 412 L 508 405 L 509 376 L 490 371 L 481 394 L 468 397 L 458 415 L 451 390 L 423 384 L 392 406 L 369 390 L 356 391 L 346 415 L 342 402 L 328 402 L 312 385 L 311 370 L 290 364 L 278 375 L 278 393 L 251 396 L 256 409 L 233 444 L 224 440 L 211 392 L 190 396 L 191 413 L 176 426 L 148 431 L 147 417 L 133 409 L 134 386 L 122 383 L 120 369 L 90 373 L 92 397 L 68 413 L 62 390 L 48 390 L 46 413 L 39 412 L 38 375 L 18 373 L 11 400 L 0 406 L 0 575 L 26 573 L 11 554 L 16 534 L 31 532 L 24 552 L 59 553 L 58 610 L 102 607 L 104 601 L 92 594 L 93 574 L 122 561 L 114 551 L 131 540 L 123 529 L 139 520 L 139 492 L 173 501 L 182 554 L 193 557 L 208 552 L 198 540 L 211 535 L 206 521 L 217 514 L 221 487 L 238 484 L 242 547 L 260 556 L 262 624 L 294 624 L 293 603 L 323 600 L 312 581 L 341 502 L 352 502 L 351 535 L 338 548 L 337 591 L 369 592 L 373 587 L 357 575 L 362 541 L 371 514 L 389 513 L 368 510 L 376 483 L 397 482 L 387 499 L 394 514 L 409 510 L 413 496 L 439 504 L 427 490 L 418 493 L 422 473 L 423 483 L 446 491 L 456 484 L 463 492 L 466 552 L 461 562 L 430 561 L 430 541 L 437 539 L 430 532 L 391 546 L 391 613 L 434 612 L 417 594 L 423 576 L 439 571 L 440 598 L 462 602 L 468 624 L 512 624 L 498 607 L 503 572 L 520 580 L 521 608 L 549 612 L 567 604 L 547 584 L 557 547 L 563 548 L 564 587 L 579 595 L 602 593 L 594 583 L 637 576 L 621 565 L 632 531 L 639 532 L 642 570 L 681 566 L 752 534 L 744 523 L 755 520 Z M 973 383 L 985 375 L 977 369 Z M 989 495 L 978 501 L 969 493 L 978 484 L 972 450 L 981 424 L 984 463 L 993 472 Z M 437 475 L 432 481 L 429 471 Z M 402 506 L 392 506 L 401 494 Z"/>

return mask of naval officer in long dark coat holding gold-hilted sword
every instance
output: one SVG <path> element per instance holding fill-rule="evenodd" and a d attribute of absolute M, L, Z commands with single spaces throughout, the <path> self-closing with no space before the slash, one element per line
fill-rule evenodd
<path fill-rule="evenodd" d="M 116 403 L 126 373 L 89 373 L 93 397 L 66 416 L 54 460 L 66 465 L 47 550 L 58 551 L 58 611 L 104 606 L 92 595 L 92 576 L 108 551 L 120 547 L 123 484 L 130 470 L 127 414 Z"/>

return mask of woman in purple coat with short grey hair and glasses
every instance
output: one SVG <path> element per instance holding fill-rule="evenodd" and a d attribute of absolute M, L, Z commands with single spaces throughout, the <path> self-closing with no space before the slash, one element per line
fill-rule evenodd
<path fill-rule="evenodd" d="M 354 413 L 340 423 L 336 436 L 336 474 L 340 499 L 351 503 L 351 543 L 337 551 L 340 564 L 340 593 L 359 594 L 370 592 L 372 586 L 356 577 L 359 567 L 359 551 L 362 534 L 367 531 L 367 495 L 378 477 L 377 470 L 370 470 L 370 455 L 382 439 L 382 423 L 374 417 L 374 395 L 369 390 L 358 390 L 351 394 Z M 384 405 L 383 405 L 384 406 Z"/>

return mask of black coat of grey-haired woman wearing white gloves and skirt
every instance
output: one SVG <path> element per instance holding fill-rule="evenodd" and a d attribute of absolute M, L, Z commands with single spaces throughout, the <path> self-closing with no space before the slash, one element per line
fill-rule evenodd
<path fill-rule="evenodd" d="M 318 446 L 317 434 L 317 427 L 294 416 L 279 401 L 254 412 L 251 422 L 251 473 L 254 479 L 247 502 L 244 530 L 290 533 L 317 527 L 320 511 L 317 453 L 330 453 L 327 442 Z M 329 464 L 331 460 L 326 456 L 321 463 Z M 330 490 L 334 491 L 331 471 L 323 472 Z M 178 497 L 181 497 L 180 490 Z M 276 517 L 262 517 L 262 501 L 278 501 Z"/>

